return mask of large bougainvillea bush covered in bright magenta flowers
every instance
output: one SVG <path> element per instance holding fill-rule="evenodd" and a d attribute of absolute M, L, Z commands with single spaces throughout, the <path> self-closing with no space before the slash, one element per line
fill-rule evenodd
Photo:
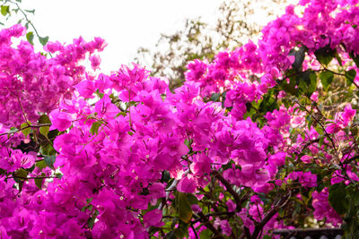
<path fill-rule="evenodd" d="M 101 38 L 48 42 L 49 58 L 1 30 L 0 235 L 357 238 L 358 12 L 290 5 L 174 92 L 137 64 L 100 73 Z"/>

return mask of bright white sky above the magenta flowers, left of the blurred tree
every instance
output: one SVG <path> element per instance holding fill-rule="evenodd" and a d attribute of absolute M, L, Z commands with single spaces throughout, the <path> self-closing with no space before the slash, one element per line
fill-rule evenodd
<path fill-rule="evenodd" d="M 202 16 L 214 20 L 221 0 L 22 0 L 35 9 L 31 19 L 42 36 L 72 42 L 83 36 L 101 37 L 108 47 L 101 53 L 101 70 L 129 64 L 139 47 L 153 47 L 161 33 L 180 30 L 184 20 Z"/>

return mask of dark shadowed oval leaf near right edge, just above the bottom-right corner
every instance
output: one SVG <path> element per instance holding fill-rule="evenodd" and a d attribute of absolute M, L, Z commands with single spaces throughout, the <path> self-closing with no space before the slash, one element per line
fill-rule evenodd
<path fill-rule="evenodd" d="M 328 201 L 337 214 L 344 215 L 349 201 L 346 199 L 346 184 L 334 184 L 329 187 Z"/>

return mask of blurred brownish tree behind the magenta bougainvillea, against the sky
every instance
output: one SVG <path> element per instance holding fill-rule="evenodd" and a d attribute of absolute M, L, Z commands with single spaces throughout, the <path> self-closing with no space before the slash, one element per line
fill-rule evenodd
<path fill-rule="evenodd" d="M 262 26 L 284 13 L 287 3 L 288 0 L 224 0 L 214 24 L 201 18 L 187 19 L 182 30 L 162 34 L 153 50 L 139 48 L 135 61 L 151 65 L 152 75 L 166 76 L 174 89 L 184 81 L 189 61 L 212 60 L 219 51 L 241 47 L 249 38 L 258 39 Z"/>

